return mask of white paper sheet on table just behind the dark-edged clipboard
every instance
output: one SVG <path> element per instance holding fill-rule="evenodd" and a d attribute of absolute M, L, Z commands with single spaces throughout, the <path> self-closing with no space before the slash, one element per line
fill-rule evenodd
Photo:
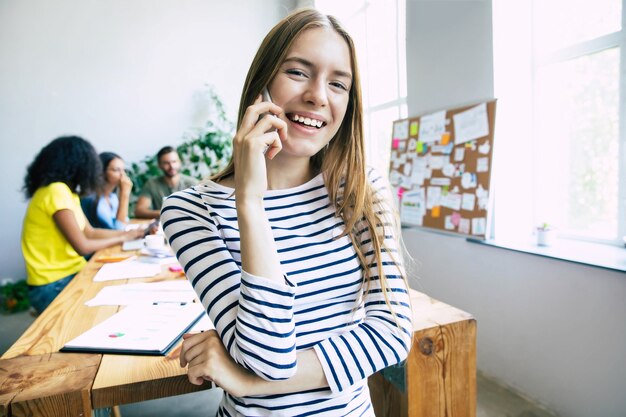
<path fill-rule="evenodd" d="M 89 307 L 105 305 L 131 305 L 165 303 L 190 303 L 196 292 L 187 280 L 141 282 L 138 284 L 110 285 L 87 301 Z"/>

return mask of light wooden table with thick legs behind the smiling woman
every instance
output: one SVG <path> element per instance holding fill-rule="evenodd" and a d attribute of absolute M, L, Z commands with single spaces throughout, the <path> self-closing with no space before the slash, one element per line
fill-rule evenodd
<path fill-rule="evenodd" d="M 107 285 L 93 282 L 100 251 L 26 332 L 0 358 L 0 417 L 91 416 L 93 409 L 210 388 L 188 382 L 178 365 L 178 348 L 167 356 L 59 353 L 65 342 L 99 324 L 120 307 L 87 307 Z M 153 278 L 184 279 L 163 267 Z M 412 292 L 415 340 L 406 365 L 405 391 L 380 374 L 370 378 L 378 416 L 475 416 L 476 324 L 458 309 Z M 398 378 L 395 378 L 396 380 Z"/>

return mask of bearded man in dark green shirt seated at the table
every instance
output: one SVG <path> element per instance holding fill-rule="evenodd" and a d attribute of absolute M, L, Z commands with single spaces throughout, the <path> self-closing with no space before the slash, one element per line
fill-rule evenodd
<path fill-rule="evenodd" d="M 137 218 L 158 218 L 165 197 L 198 183 L 195 178 L 180 173 L 180 157 L 171 146 L 161 148 L 157 153 L 157 161 L 163 175 L 151 178 L 144 184 L 135 206 Z"/>

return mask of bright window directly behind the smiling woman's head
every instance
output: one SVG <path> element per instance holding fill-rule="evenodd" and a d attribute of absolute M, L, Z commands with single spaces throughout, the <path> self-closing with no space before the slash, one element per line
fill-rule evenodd
<path fill-rule="evenodd" d="M 357 48 L 368 164 L 389 169 L 394 120 L 407 117 L 405 0 L 316 0 L 344 24 Z"/>

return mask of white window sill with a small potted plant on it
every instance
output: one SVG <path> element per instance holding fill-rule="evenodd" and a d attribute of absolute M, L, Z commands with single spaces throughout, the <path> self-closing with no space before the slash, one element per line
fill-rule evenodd
<path fill-rule="evenodd" d="M 509 242 L 469 237 L 468 242 L 559 259 L 612 271 L 626 272 L 626 248 L 600 243 L 555 239 L 551 246 L 537 246 L 532 241 Z"/>

